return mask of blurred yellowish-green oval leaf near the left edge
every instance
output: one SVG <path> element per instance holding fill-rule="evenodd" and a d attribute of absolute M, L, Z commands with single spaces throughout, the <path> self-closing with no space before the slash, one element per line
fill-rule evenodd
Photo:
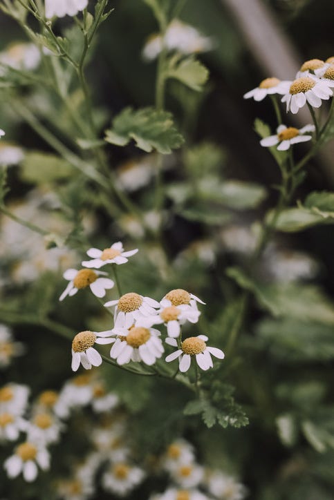
<path fill-rule="evenodd" d="M 66 160 L 40 151 L 27 152 L 20 166 L 21 179 L 34 184 L 64 180 L 73 173 L 73 167 Z"/>

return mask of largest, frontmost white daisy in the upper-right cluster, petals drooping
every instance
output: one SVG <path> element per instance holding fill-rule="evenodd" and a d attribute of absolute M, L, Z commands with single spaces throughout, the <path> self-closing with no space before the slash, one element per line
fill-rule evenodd
<path fill-rule="evenodd" d="M 286 111 L 291 111 L 295 115 L 306 102 L 313 108 L 319 108 L 322 99 L 327 100 L 331 95 L 333 95 L 333 90 L 325 81 L 309 74 L 293 81 L 281 102 L 286 102 Z"/>

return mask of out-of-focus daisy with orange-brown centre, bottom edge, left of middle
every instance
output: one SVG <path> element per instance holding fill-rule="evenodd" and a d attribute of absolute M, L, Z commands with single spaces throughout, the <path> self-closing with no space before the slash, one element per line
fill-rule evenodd
<path fill-rule="evenodd" d="M 113 463 L 102 475 L 104 490 L 125 497 L 142 482 L 145 473 L 139 467 L 129 463 Z"/>

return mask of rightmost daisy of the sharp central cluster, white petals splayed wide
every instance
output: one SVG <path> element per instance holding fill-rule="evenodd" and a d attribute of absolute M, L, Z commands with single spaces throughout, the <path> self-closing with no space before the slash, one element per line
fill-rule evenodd
<path fill-rule="evenodd" d="M 181 348 L 175 352 L 172 352 L 167 356 L 166 361 L 173 361 L 176 358 L 179 358 L 179 366 L 178 369 L 180 372 L 187 372 L 190 368 L 190 363 L 192 357 L 195 356 L 196 363 L 198 366 L 207 370 L 213 367 L 212 356 L 216 358 L 223 359 L 225 358 L 225 354 L 221 349 L 217 347 L 207 347 L 205 341 L 208 340 L 205 335 L 198 335 L 197 337 L 189 337 L 183 340 L 181 343 Z M 166 343 L 172 345 L 173 347 L 177 347 L 178 343 L 175 338 L 166 338 Z"/>

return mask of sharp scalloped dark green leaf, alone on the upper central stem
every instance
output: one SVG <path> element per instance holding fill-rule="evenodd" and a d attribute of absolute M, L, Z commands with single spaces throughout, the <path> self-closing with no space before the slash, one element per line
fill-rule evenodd
<path fill-rule="evenodd" d="M 171 113 L 154 108 L 133 110 L 126 108 L 113 120 L 112 128 L 106 130 L 106 142 L 125 146 L 133 139 L 136 146 L 147 153 L 156 149 L 169 154 L 179 148 L 184 140 L 174 126 Z"/>

